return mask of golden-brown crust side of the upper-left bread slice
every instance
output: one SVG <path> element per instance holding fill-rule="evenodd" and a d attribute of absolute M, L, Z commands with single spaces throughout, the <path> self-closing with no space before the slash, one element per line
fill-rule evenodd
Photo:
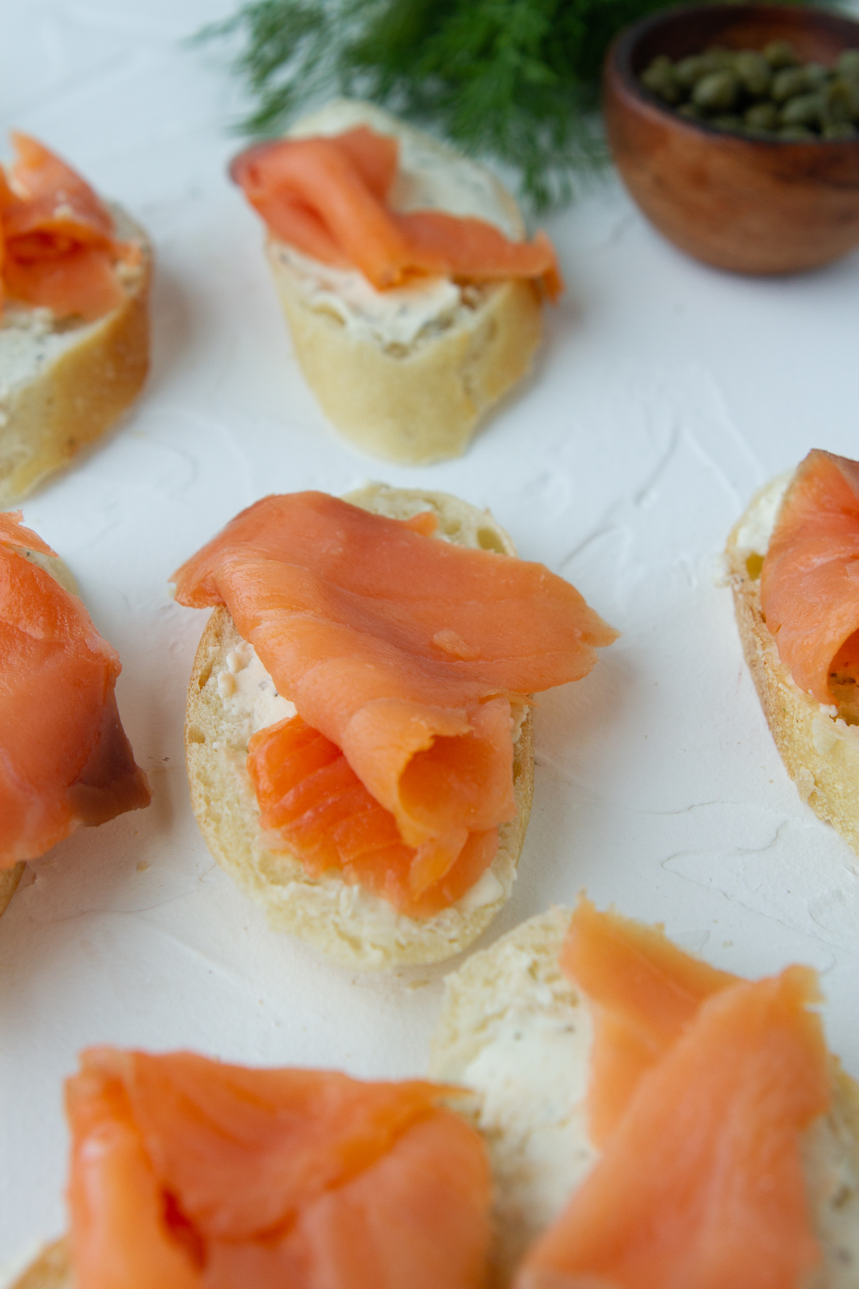
<path fill-rule="evenodd" d="M 149 366 L 152 247 L 115 209 L 117 233 L 142 250 L 124 269 L 125 302 L 94 324 L 32 379 L 14 388 L 0 418 L 0 507 L 32 492 L 103 434 L 140 392 Z"/>

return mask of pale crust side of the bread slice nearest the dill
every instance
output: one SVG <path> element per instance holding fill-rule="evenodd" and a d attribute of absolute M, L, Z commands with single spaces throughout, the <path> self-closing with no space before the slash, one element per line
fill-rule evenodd
<path fill-rule="evenodd" d="M 314 308 L 281 250 L 268 241 L 301 370 L 326 416 L 371 456 L 403 465 L 461 456 L 480 418 L 531 369 L 542 334 L 531 281 L 493 285 L 448 330 L 394 353 Z"/>

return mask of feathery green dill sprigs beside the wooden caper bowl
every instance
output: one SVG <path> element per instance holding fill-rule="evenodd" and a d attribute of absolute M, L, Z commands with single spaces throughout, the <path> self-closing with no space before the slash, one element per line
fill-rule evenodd
<path fill-rule="evenodd" d="M 537 210 L 604 156 L 596 103 L 612 37 L 665 0 L 250 0 L 194 37 L 243 36 L 234 67 L 273 134 L 322 93 L 435 124 L 519 171 Z"/>

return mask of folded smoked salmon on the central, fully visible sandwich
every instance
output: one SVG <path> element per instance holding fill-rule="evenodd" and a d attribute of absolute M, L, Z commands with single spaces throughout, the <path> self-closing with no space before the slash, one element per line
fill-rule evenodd
<path fill-rule="evenodd" d="M 542 565 L 420 526 L 321 492 L 269 496 L 173 579 L 179 603 L 229 608 L 301 718 L 252 740 L 264 826 L 348 880 L 393 844 L 401 907 L 460 856 L 491 862 L 496 842 L 477 838 L 515 816 L 511 705 L 586 675 L 617 635 Z"/>

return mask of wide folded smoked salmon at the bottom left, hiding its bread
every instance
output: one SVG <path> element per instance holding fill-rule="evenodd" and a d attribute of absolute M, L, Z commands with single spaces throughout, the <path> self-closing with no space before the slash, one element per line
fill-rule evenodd
<path fill-rule="evenodd" d="M 93 1048 L 66 1085 L 76 1289 L 482 1289 L 456 1089 Z"/>

